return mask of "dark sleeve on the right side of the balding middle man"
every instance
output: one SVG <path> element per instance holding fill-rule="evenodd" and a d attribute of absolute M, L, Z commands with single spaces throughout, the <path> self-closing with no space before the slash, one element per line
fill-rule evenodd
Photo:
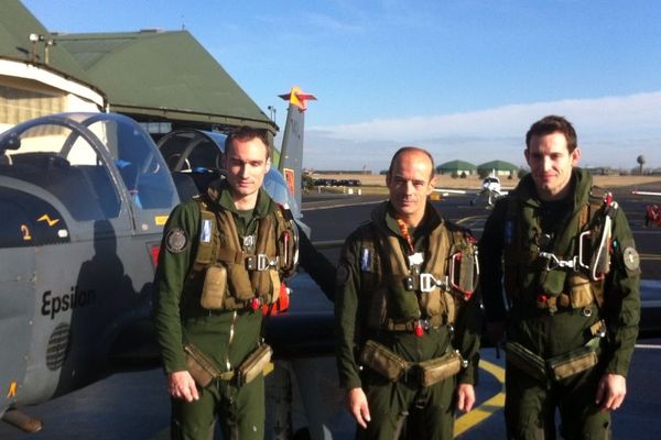
<path fill-rule="evenodd" d="M 474 294 L 464 305 L 455 326 L 454 346 L 459 350 L 462 358 L 468 361 L 466 369 L 462 370 L 457 376 L 458 383 L 477 385 L 481 336 L 481 311 L 478 293 Z"/>

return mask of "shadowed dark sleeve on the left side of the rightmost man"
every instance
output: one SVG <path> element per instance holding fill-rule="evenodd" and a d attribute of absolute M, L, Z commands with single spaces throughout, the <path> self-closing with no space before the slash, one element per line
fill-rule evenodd
<path fill-rule="evenodd" d="M 507 310 L 502 292 L 503 228 L 507 202 L 498 200 L 485 223 L 479 241 L 479 289 L 487 321 L 505 321 Z"/>

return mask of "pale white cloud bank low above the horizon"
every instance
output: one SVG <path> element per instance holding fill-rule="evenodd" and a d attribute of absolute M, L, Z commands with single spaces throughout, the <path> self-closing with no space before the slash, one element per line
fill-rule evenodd
<path fill-rule="evenodd" d="M 661 91 L 598 99 L 503 106 L 466 113 L 380 119 L 306 130 L 305 166 L 380 170 L 399 146 L 430 150 L 437 163 L 503 160 L 523 165 L 524 135 L 546 114 L 566 117 L 578 133 L 583 165 L 631 168 L 644 154 L 661 166 Z"/>

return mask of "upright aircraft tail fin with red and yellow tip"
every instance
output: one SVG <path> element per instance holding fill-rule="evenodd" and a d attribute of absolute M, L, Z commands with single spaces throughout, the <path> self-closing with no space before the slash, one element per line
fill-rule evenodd
<path fill-rule="evenodd" d="M 286 123 L 280 148 L 280 165 L 278 169 L 284 176 L 286 184 L 301 206 L 301 176 L 303 173 L 303 132 L 307 101 L 315 100 L 314 95 L 305 94 L 299 87 L 292 87 L 289 94 L 280 95 L 289 101 Z"/>

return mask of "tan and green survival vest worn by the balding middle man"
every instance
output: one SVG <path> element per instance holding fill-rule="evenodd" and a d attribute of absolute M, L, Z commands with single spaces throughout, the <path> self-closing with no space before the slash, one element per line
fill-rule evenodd
<path fill-rule="evenodd" d="M 410 264 L 399 237 L 382 222 L 388 205 L 362 226 L 360 295 L 368 298 L 367 326 L 415 331 L 454 323 L 478 278 L 477 246 L 467 230 L 442 222 L 429 237 L 422 264 Z"/>

